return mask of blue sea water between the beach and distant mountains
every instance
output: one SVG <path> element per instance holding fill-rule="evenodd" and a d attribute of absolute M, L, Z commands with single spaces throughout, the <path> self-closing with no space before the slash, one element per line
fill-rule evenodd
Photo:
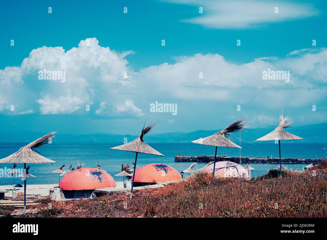
<path fill-rule="evenodd" d="M 130 164 L 135 161 L 134 152 L 125 152 L 119 150 L 112 150 L 111 147 L 121 145 L 122 143 L 95 143 L 95 142 L 78 142 L 78 143 L 63 143 L 53 141 L 51 144 L 46 144 L 37 149 L 45 157 L 50 158 L 56 163 L 52 164 L 31 164 L 29 172 L 36 177 L 29 177 L 27 184 L 57 184 L 59 183 L 58 173 L 52 171 L 66 165 L 64 170 L 67 170 L 70 163 L 77 168 L 77 161 L 83 163 L 84 167 L 96 168 L 96 163 L 101 165 L 101 168 L 106 170 L 117 182 L 122 182 L 123 177 L 114 176 L 121 172 L 121 165 Z M 0 143 L 0 159 L 9 156 L 18 151 L 26 143 Z M 137 166 L 142 167 L 150 163 L 164 163 L 177 171 L 181 172 L 188 168 L 192 162 L 175 162 L 175 156 L 203 156 L 214 155 L 215 147 L 198 145 L 195 143 L 149 143 L 149 145 L 157 151 L 164 154 L 164 156 L 155 156 L 149 154 L 139 153 L 137 156 Z M 296 143 L 281 141 L 281 157 L 282 158 L 323 158 L 327 157 L 325 148 L 327 143 Z M 279 157 L 278 144 L 274 141 L 258 142 L 255 144 L 241 143 L 241 156 L 247 157 L 265 157 L 272 154 L 273 157 Z M 222 148 L 218 147 L 217 155 L 239 156 L 239 149 L 236 148 Z M 207 163 L 196 163 L 194 170 L 202 168 Z M 241 163 L 245 166 L 244 163 Z M 292 168 L 302 170 L 308 164 L 284 164 L 288 169 Z M 251 163 L 250 166 L 254 168 L 252 177 L 257 177 L 267 172 L 267 169 L 276 168 L 277 164 L 271 163 Z M 13 164 L 0 164 L 0 185 L 11 185 L 13 181 L 15 184 L 23 184 L 23 178 L 13 179 L 10 175 L 4 174 L 11 170 Z M 19 164 L 16 168 L 23 171 L 24 164 Z M 188 173 L 184 174 L 184 177 Z"/>

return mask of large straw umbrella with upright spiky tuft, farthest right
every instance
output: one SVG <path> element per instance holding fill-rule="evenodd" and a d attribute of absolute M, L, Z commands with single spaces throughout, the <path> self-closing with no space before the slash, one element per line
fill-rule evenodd
<path fill-rule="evenodd" d="M 290 126 L 290 117 L 283 117 L 283 111 L 282 115 L 279 115 L 279 125 L 276 127 L 276 129 L 267 135 L 258 138 L 256 141 L 271 141 L 271 140 L 278 140 L 278 146 L 279 146 L 279 169 L 280 174 L 282 177 L 282 160 L 281 160 L 281 140 L 295 140 L 295 139 L 303 139 L 302 137 L 295 136 L 294 134 L 291 134 L 289 132 L 286 132 L 284 128 L 291 127 Z"/>

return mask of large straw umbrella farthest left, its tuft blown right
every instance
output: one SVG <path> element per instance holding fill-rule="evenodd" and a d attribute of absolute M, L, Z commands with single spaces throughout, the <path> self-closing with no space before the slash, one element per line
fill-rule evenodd
<path fill-rule="evenodd" d="M 49 133 L 20 148 L 17 152 L 0 160 L 0 163 L 24 163 L 24 214 L 26 214 L 26 163 L 55 163 L 36 151 L 36 148 L 49 142 L 56 132 Z"/>

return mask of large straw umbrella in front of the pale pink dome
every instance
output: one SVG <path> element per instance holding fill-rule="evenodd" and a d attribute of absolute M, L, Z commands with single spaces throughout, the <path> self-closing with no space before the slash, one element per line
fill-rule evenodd
<path fill-rule="evenodd" d="M 205 137 L 203 139 L 198 139 L 198 140 L 192 141 L 194 143 L 216 147 L 215 162 L 214 162 L 214 168 L 213 168 L 213 172 L 212 172 L 211 184 L 214 184 L 217 147 L 241 148 L 240 146 L 238 146 L 237 144 L 235 144 L 231 141 L 230 137 L 234 137 L 234 136 L 231 136 L 230 133 L 242 131 L 245 128 L 245 124 L 247 124 L 247 123 L 243 122 L 245 119 L 246 118 L 237 120 L 236 122 L 232 123 L 231 125 L 224 128 L 223 130 L 215 133 L 214 135 Z M 234 137 L 234 138 L 236 138 L 236 137 Z"/>

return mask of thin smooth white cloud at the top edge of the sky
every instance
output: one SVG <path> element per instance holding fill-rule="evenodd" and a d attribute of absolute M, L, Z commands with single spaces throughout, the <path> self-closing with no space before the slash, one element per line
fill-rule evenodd
<path fill-rule="evenodd" d="M 261 24 L 277 23 L 318 15 L 310 4 L 260 0 L 170 0 L 168 2 L 203 7 L 199 17 L 183 20 L 219 29 L 254 28 Z M 278 13 L 275 13 L 278 7 Z"/>

